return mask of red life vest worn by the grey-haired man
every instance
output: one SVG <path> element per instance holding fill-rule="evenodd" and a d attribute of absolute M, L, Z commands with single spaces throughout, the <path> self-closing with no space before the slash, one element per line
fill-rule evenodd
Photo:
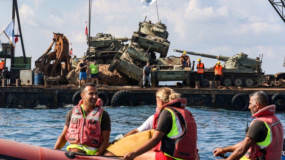
<path fill-rule="evenodd" d="M 267 106 L 256 112 L 251 118 L 257 117 L 254 121 L 260 120 L 266 122 L 270 128 L 270 141 L 268 146 L 260 148 L 257 143 L 246 152 L 245 157 L 248 159 L 256 160 L 257 158 L 264 157 L 265 159 L 281 159 L 281 152 L 283 146 L 284 129 L 280 120 L 274 115 L 275 105 Z"/>

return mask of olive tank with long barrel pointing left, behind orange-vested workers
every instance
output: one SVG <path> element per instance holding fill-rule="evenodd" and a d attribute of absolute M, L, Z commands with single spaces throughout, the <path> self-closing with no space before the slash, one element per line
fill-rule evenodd
<path fill-rule="evenodd" d="M 176 50 L 175 52 L 183 53 L 184 50 Z M 186 51 L 187 54 L 208 57 L 213 59 L 218 59 L 224 61 L 223 64 L 223 86 L 236 86 L 241 87 L 245 85 L 246 87 L 251 87 L 254 84 L 262 85 L 265 83 L 266 78 L 264 72 L 262 72 L 261 64 L 262 61 L 259 57 L 255 59 L 249 58 L 247 54 L 238 53 L 233 57 L 226 56 L 215 56 L 210 54 L 195 53 Z M 191 74 L 191 80 L 194 83 L 197 80 L 197 72 Z M 214 80 L 214 68 L 206 68 L 204 70 L 204 84 L 209 85 L 209 81 Z"/>

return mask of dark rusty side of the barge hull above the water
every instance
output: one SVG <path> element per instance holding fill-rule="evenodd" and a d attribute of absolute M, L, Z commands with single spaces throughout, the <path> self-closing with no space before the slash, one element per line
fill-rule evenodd
<path fill-rule="evenodd" d="M 59 86 L 60 87 L 60 86 Z M 1 108 L 55 109 L 72 106 L 72 96 L 78 88 L 44 88 L 44 87 L 0 87 Z M 98 88 L 112 98 L 120 90 L 129 91 L 136 101 L 135 105 L 156 105 L 155 93 L 158 88 L 143 89 L 138 87 L 104 87 Z M 263 90 L 269 98 L 274 94 L 285 94 L 281 88 L 251 89 L 175 89 L 187 99 L 188 107 L 224 108 L 232 110 L 232 99 L 237 94 L 249 95 Z"/>

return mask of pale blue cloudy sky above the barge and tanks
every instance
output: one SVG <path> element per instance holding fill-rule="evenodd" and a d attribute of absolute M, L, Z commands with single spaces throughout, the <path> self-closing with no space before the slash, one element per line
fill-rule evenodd
<path fill-rule="evenodd" d="M 32 66 L 52 43 L 53 32 L 67 36 L 74 55 L 80 57 L 86 52 L 88 3 L 87 0 L 18 0 L 25 52 L 32 56 Z M 173 49 L 229 57 L 239 52 L 251 58 L 263 54 L 265 74 L 284 72 L 285 23 L 268 1 L 157 0 L 157 7 L 159 20 L 169 32 L 168 56 L 180 55 Z M 131 38 L 145 16 L 153 23 L 158 21 L 155 3 L 142 8 L 140 0 L 93 0 L 91 36 L 100 32 Z M 1 31 L 11 17 L 12 1 L 0 0 Z M 15 22 L 15 32 L 17 29 Z M 2 43 L 8 42 L 4 34 L 0 39 Z M 20 41 L 16 43 L 15 55 L 22 55 Z M 198 58 L 206 68 L 217 62 L 190 55 L 190 60 L 196 63 Z"/>

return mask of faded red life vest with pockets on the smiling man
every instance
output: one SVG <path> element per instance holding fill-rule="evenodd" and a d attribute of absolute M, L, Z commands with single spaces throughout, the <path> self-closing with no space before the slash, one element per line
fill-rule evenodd
<path fill-rule="evenodd" d="M 103 102 L 98 98 L 96 106 L 84 118 L 83 110 L 81 109 L 83 100 L 72 110 L 69 128 L 65 139 L 70 144 L 81 144 L 89 147 L 98 148 L 102 143 L 100 118 L 104 111 L 102 107 Z"/>

